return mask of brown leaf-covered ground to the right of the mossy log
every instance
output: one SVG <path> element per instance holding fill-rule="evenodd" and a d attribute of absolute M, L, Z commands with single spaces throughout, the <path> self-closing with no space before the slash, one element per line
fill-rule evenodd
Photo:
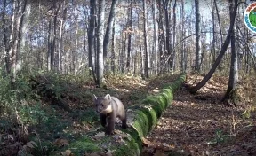
<path fill-rule="evenodd" d="M 191 85 L 195 77 L 189 76 L 187 83 Z M 178 90 L 148 135 L 144 155 L 154 151 L 164 156 L 164 146 L 173 155 L 256 155 L 256 114 L 245 119 L 245 103 L 238 108 L 224 106 L 220 99 L 227 85 L 227 79 L 218 78 L 196 95 Z"/>

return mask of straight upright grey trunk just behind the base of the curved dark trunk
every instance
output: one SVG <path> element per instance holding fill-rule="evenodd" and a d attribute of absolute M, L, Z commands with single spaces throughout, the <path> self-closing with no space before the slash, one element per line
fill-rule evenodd
<path fill-rule="evenodd" d="M 200 13 L 199 13 L 199 1 L 195 0 L 195 10 L 196 10 L 196 72 L 200 73 L 201 70 L 201 47 L 200 47 Z"/>

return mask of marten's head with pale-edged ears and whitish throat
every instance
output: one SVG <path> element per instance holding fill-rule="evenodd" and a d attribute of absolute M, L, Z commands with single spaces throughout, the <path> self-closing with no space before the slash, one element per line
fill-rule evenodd
<path fill-rule="evenodd" d="M 107 94 L 105 97 L 97 97 L 93 94 L 92 100 L 96 106 L 96 111 L 98 113 L 111 113 L 111 96 Z"/>

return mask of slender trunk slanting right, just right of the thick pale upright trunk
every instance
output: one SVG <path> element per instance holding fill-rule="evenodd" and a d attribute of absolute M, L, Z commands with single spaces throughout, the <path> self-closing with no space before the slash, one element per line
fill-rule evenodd
<path fill-rule="evenodd" d="M 111 9 L 109 12 L 109 17 L 108 17 L 108 25 L 107 25 L 107 29 L 106 29 L 106 34 L 104 37 L 104 41 L 103 41 L 103 56 L 104 56 L 104 64 L 106 64 L 106 58 L 107 58 L 107 54 L 108 54 L 108 44 L 110 42 L 110 36 L 112 35 L 112 27 L 114 25 L 114 20 L 116 17 L 116 5 L 118 4 L 118 0 L 113 0 L 112 4 L 111 4 Z M 105 12 L 105 11 L 103 11 Z M 104 27 L 104 26 L 103 26 Z M 105 65 L 106 67 L 106 65 Z"/>

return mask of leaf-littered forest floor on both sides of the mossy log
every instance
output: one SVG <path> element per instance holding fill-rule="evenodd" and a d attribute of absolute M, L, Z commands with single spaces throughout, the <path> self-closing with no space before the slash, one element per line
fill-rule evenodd
<path fill-rule="evenodd" d="M 108 74 L 106 87 L 101 89 L 95 88 L 90 81 L 84 83 L 73 78 L 68 81 L 67 77 L 51 74 L 37 76 L 33 100 L 41 103 L 36 105 L 28 101 L 32 105 L 27 108 L 29 113 L 20 110 L 24 112 L 23 118 L 29 121 L 28 127 L 13 127 L 0 118 L 0 155 L 29 153 L 26 151 L 28 147 L 38 150 L 30 152 L 33 155 L 60 151 L 63 146 L 99 128 L 92 94 L 116 96 L 127 107 L 140 104 L 143 98 L 156 94 L 177 76 L 166 74 L 144 81 L 132 75 Z M 186 83 L 191 85 L 202 78 L 188 75 Z M 244 113 L 252 105 L 244 102 L 244 105 L 232 108 L 220 103 L 227 80 L 227 77 L 214 77 L 196 95 L 188 93 L 185 87 L 178 90 L 156 128 L 144 138 L 142 156 L 256 155 L 256 127 L 253 127 L 256 126 L 256 114 L 252 111 Z M 28 130 L 27 135 L 20 135 L 20 129 Z M 32 137 L 40 141 L 38 147 Z"/>

